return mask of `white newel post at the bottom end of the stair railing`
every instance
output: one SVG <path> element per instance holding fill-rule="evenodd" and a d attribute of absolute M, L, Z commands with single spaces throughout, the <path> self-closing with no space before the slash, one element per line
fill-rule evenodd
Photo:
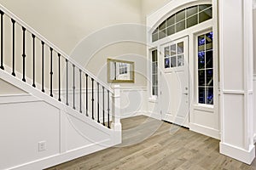
<path fill-rule="evenodd" d="M 113 86 L 113 95 L 112 95 L 112 123 L 111 128 L 115 131 L 121 131 L 122 125 L 120 122 L 120 86 Z"/>

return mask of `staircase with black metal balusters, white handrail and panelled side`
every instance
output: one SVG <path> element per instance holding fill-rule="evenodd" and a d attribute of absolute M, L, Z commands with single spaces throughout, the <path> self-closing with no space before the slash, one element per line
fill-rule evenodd
<path fill-rule="evenodd" d="M 0 14 L 0 80 L 22 92 L 0 95 L 0 169 L 44 169 L 119 144 L 119 86 L 2 5 Z"/>

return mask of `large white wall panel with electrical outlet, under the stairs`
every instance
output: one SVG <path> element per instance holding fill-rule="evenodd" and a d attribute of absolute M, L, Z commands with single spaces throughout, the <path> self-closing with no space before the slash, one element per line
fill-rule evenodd
<path fill-rule="evenodd" d="M 0 169 L 60 152 L 60 111 L 44 102 L 0 104 Z M 45 141 L 46 150 L 38 151 Z"/>

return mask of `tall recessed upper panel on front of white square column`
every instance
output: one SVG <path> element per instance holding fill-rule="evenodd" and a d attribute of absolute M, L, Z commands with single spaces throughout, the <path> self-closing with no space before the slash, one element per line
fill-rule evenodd
<path fill-rule="evenodd" d="M 243 47 L 242 42 L 242 32 L 243 27 L 241 25 L 242 22 L 242 1 L 235 0 L 230 3 L 230 1 L 224 1 L 225 9 L 223 10 L 223 38 L 222 43 L 225 44 L 223 48 L 224 56 L 224 65 L 230 65 L 230 67 L 225 66 L 223 71 L 224 76 L 224 89 L 232 89 L 232 90 L 242 90 L 243 89 L 243 74 L 244 68 L 243 63 L 243 51 L 241 48 Z M 240 8 L 234 8 L 234 5 Z M 236 19 L 236 22 L 230 22 L 230 18 Z"/>

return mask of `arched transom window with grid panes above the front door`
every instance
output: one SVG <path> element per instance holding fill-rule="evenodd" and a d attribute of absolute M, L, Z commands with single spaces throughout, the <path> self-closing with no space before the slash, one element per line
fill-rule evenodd
<path fill-rule="evenodd" d="M 212 19 L 212 4 L 184 8 L 164 20 L 152 33 L 152 42 Z"/>

